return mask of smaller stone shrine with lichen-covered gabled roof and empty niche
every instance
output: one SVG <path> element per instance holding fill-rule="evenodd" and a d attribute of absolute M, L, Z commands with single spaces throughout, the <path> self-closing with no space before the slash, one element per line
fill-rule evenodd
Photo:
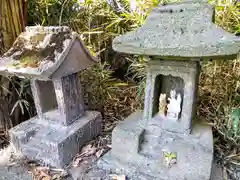
<path fill-rule="evenodd" d="M 23 155 L 65 167 L 101 132 L 101 114 L 84 108 L 78 72 L 95 64 L 68 27 L 26 27 L 0 60 L 0 72 L 30 78 L 37 116 L 10 130 Z"/>

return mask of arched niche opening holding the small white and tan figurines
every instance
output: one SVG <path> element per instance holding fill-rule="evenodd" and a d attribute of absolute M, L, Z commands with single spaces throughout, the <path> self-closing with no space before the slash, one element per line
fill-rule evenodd
<path fill-rule="evenodd" d="M 156 76 L 152 116 L 178 120 L 181 118 L 184 99 L 184 80 L 172 75 Z"/>

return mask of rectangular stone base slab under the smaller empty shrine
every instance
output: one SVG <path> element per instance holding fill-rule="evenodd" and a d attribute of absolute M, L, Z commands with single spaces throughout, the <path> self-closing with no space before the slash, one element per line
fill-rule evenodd
<path fill-rule="evenodd" d="M 63 168 L 84 143 L 99 135 L 101 130 L 101 114 L 86 111 L 84 116 L 69 126 L 34 117 L 12 128 L 9 133 L 16 149 L 29 159 Z"/>

